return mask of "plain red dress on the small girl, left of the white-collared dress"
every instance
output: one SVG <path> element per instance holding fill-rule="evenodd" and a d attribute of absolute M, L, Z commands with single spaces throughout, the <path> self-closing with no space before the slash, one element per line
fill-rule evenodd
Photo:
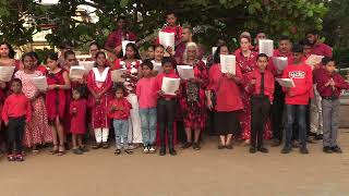
<path fill-rule="evenodd" d="M 85 134 L 86 133 L 86 107 L 87 101 L 85 99 L 73 100 L 70 103 L 71 127 L 72 134 Z M 73 111 L 76 111 L 75 113 Z"/>

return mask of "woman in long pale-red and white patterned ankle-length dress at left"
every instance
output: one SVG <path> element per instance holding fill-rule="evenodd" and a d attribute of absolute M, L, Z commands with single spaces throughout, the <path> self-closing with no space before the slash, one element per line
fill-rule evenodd
<path fill-rule="evenodd" d="M 32 103 L 32 120 L 25 126 L 24 145 L 26 147 L 33 147 L 33 152 L 38 152 L 36 145 L 52 142 L 52 132 L 48 125 L 43 94 L 31 82 L 32 77 L 43 76 L 43 73 L 36 70 L 31 53 L 23 54 L 22 62 L 24 69 L 17 71 L 14 77 L 22 81 L 22 91 L 31 99 Z"/>

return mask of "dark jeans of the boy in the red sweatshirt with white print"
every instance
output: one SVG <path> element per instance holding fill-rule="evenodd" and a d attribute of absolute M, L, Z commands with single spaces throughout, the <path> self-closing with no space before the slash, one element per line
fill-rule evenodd
<path fill-rule="evenodd" d="M 291 147 L 292 132 L 293 132 L 292 125 L 297 117 L 298 128 L 299 128 L 299 142 L 301 147 L 305 147 L 306 146 L 306 125 L 305 125 L 306 106 L 303 106 L 303 105 L 285 105 L 285 106 L 286 106 L 285 146 L 288 148 Z"/>

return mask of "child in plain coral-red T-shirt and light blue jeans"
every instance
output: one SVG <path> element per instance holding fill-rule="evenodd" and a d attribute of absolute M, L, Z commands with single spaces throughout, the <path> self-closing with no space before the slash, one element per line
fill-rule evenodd
<path fill-rule="evenodd" d="M 156 93 L 154 84 L 156 82 L 152 74 L 153 63 L 148 60 L 142 64 L 142 77 L 136 87 L 136 95 L 140 102 L 140 117 L 144 154 L 155 152 L 156 136 Z"/>

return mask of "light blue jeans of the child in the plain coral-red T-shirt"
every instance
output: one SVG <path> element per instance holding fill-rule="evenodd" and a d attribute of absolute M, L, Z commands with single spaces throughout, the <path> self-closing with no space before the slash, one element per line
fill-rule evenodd
<path fill-rule="evenodd" d="M 143 145 L 154 145 L 156 137 L 156 108 L 140 108 Z"/>

